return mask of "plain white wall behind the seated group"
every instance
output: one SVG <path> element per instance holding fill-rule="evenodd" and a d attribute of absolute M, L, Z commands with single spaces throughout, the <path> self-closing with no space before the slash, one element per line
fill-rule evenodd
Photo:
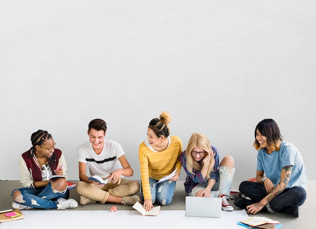
<path fill-rule="evenodd" d="M 184 148 L 206 134 L 235 180 L 255 176 L 254 128 L 273 118 L 314 180 L 316 2 L 0 2 L 0 180 L 19 180 L 47 130 L 78 180 L 88 123 L 108 123 L 139 180 L 149 121 L 170 112 Z M 181 179 L 185 174 L 182 172 Z"/>

